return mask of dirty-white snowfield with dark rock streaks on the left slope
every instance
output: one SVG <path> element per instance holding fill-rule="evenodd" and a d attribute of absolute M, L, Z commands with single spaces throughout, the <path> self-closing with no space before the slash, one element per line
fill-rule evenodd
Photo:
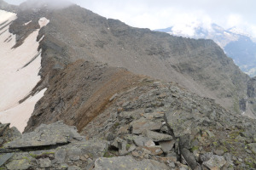
<path fill-rule="evenodd" d="M 0 19 L 1 25 L 6 20 L 15 20 L 16 14 L 0 10 Z M 42 18 L 38 23 L 42 28 L 49 20 Z M 34 105 L 45 92 L 44 89 L 19 104 L 40 81 L 38 72 L 41 68 L 41 52 L 38 51 L 37 42 L 39 30 L 33 31 L 18 48 L 12 48 L 16 38 L 9 32 L 9 26 L 0 31 L 0 122 L 11 123 L 20 132 L 24 131 Z"/>

